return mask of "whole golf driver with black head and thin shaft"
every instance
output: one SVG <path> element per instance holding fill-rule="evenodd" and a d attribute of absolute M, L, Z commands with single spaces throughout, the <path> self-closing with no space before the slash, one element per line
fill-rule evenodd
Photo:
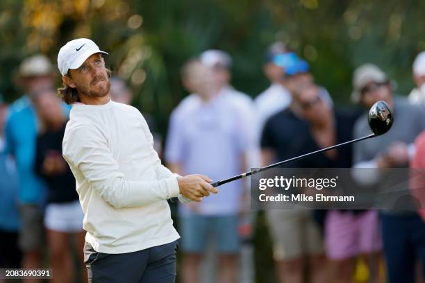
<path fill-rule="evenodd" d="M 247 177 L 249 175 L 253 175 L 255 173 L 265 171 L 269 168 L 273 168 L 288 162 L 292 162 L 294 160 L 300 160 L 301 158 L 305 158 L 311 155 L 315 155 L 317 153 L 322 153 L 324 151 L 330 151 L 333 148 L 338 148 L 340 146 L 345 146 L 347 144 L 353 144 L 357 141 L 363 141 L 363 139 L 371 139 L 372 137 L 378 137 L 379 135 L 385 134 L 388 130 L 390 130 L 392 126 L 392 122 L 394 121 L 394 117 L 392 114 L 392 110 L 390 109 L 390 106 L 385 101 L 378 101 L 374 105 L 372 105 L 372 108 L 369 110 L 369 114 L 367 117 L 367 121 L 369 123 L 369 127 L 372 130 L 373 134 L 367 135 L 365 137 L 359 137 L 358 139 L 353 139 L 351 141 L 345 141 L 342 144 L 336 144 L 335 146 L 329 146 L 327 148 L 319 149 L 319 151 L 313 151 L 311 153 L 306 153 L 304 155 L 299 155 L 297 157 L 292 157 L 288 160 L 283 160 L 281 162 L 277 162 L 274 164 L 267 165 L 265 167 L 258 168 L 253 171 L 245 172 L 240 175 L 235 175 L 231 178 L 227 178 L 224 180 L 220 180 L 217 182 L 211 183 L 213 187 L 219 187 L 221 185 L 224 185 L 228 182 L 232 182 L 234 180 L 238 180 L 240 178 Z M 177 198 L 172 198 L 172 201 L 176 201 Z"/>

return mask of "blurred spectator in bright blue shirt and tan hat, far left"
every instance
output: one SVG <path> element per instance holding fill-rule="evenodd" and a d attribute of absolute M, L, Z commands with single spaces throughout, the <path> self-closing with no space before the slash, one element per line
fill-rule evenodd
<path fill-rule="evenodd" d="M 17 83 L 26 95 L 10 106 L 6 122 L 6 151 L 15 156 L 19 176 L 19 211 L 22 227 L 19 246 L 24 252 L 23 268 L 38 268 L 43 242 L 42 206 L 46 198 L 44 184 L 33 170 L 38 114 L 33 107 L 37 89 L 53 85 L 53 67 L 44 55 L 26 58 L 19 66 Z M 66 112 L 66 109 L 64 109 Z"/>

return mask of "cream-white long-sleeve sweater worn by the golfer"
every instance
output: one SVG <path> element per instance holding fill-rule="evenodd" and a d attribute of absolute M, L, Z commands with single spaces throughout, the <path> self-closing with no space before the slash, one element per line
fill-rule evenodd
<path fill-rule="evenodd" d="M 113 101 L 72 105 L 63 157 L 94 250 L 134 252 L 179 238 L 167 203 L 179 193 L 176 175 L 161 164 L 136 108 Z"/>

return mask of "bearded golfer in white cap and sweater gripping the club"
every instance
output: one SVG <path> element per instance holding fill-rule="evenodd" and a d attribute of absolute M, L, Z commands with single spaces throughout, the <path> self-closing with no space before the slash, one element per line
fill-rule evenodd
<path fill-rule="evenodd" d="M 89 282 L 174 282 L 178 233 L 168 198 L 201 201 L 217 189 L 205 175 L 173 174 L 153 150 L 136 109 L 110 100 L 110 71 L 99 47 L 72 40 L 58 54 L 72 104 L 63 157 L 83 207 Z"/>

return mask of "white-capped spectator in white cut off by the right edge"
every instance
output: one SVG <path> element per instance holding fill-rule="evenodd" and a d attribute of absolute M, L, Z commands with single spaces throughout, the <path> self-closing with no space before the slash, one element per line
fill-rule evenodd
<path fill-rule="evenodd" d="M 410 92 L 408 99 L 425 107 L 425 51 L 419 53 L 413 62 L 413 80 L 416 87 Z"/>

